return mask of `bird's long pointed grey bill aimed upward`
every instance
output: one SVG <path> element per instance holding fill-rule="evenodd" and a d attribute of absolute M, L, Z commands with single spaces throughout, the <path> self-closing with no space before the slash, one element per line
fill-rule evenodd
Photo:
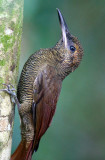
<path fill-rule="evenodd" d="M 65 43 L 65 47 L 67 47 L 67 33 L 70 34 L 70 32 L 68 30 L 65 19 L 63 18 L 62 14 L 58 8 L 57 8 L 57 12 L 58 12 L 59 22 L 60 22 L 60 26 L 61 26 L 61 30 L 62 30 L 63 42 Z"/>

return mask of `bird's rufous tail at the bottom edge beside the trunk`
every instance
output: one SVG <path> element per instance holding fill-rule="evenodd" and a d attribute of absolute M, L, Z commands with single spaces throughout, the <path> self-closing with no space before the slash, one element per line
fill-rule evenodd
<path fill-rule="evenodd" d="M 12 154 L 11 160 L 31 160 L 33 141 L 21 141 L 16 151 Z"/>

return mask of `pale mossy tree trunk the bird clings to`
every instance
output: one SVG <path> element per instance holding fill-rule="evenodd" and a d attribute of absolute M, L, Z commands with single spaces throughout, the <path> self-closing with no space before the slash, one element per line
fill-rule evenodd
<path fill-rule="evenodd" d="M 2 83 L 16 87 L 23 22 L 23 0 L 0 0 L 0 89 Z M 14 105 L 0 92 L 0 160 L 11 155 Z"/>

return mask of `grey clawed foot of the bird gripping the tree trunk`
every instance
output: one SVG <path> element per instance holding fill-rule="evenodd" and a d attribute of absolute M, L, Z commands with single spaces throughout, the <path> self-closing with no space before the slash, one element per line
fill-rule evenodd
<path fill-rule="evenodd" d="M 18 110 L 19 110 L 20 103 L 19 103 L 18 98 L 17 98 L 16 93 L 15 93 L 16 89 L 13 87 L 12 84 L 4 84 L 3 83 L 3 85 L 5 85 L 7 88 L 0 89 L 0 91 L 8 93 L 11 96 L 12 102 L 15 102 L 15 104 L 17 104 L 17 107 L 18 107 Z"/>

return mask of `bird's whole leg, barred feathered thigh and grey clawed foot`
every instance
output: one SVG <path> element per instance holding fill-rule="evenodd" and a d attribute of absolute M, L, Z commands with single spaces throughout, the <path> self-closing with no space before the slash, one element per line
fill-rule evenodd
<path fill-rule="evenodd" d="M 34 137 L 34 126 L 32 123 L 32 114 L 31 114 L 31 105 L 27 102 L 22 104 L 19 103 L 18 98 L 15 93 L 15 88 L 12 84 L 3 84 L 6 86 L 5 89 L 1 89 L 0 91 L 8 93 L 12 101 L 14 100 L 15 104 L 17 104 L 18 112 L 21 118 L 21 134 L 22 138 L 26 140 L 32 140 Z"/>

